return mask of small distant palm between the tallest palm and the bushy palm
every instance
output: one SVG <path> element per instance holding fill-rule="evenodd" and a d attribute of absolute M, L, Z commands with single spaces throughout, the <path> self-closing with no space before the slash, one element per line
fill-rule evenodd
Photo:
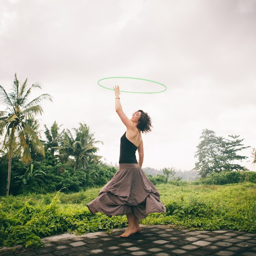
<path fill-rule="evenodd" d="M 62 124 L 61 124 L 62 125 Z M 60 125 L 60 126 L 61 126 Z M 64 129 L 62 132 L 59 133 L 60 126 L 54 121 L 54 123 L 51 126 L 51 130 L 47 128 L 47 126 L 44 124 L 45 127 L 45 136 L 46 136 L 46 149 L 51 148 L 51 154 L 54 155 L 54 151 L 56 150 L 53 147 L 59 147 L 61 138 L 63 137 Z"/>

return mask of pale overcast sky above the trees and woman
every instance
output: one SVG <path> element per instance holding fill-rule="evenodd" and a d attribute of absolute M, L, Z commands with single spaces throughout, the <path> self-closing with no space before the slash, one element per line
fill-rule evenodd
<path fill-rule="evenodd" d="M 153 132 L 143 135 L 144 167 L 191 170 L 203 129 L 240 135 L 256 147 L 256 0 L 2 0 L 0 85 L 14 74 L 49 93 L 44 124 L 86 123 L 99 154 L 118 163 L 125 132 L 114 92 L 97 81 L 129 76 L 165 84 L 156 94 L 121 93 L 127 116 L 143 109 Z M 132 80 L 102 81 L 121 90 L 159 91 Z M 130 84 L 132 87 L 129 87 Z M 4 106 L 0 105 L 4 110 Z M 251 171 L 251 148 L 242 165 Z"/>

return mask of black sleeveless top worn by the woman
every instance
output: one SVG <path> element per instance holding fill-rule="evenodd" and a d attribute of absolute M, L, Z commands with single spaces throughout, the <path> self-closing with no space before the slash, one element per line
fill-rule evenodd
<path fill-rule="evenodd" d="M 126 132 L 120 141 L 120 157 L 119 164 L 138 164 L 135 152 L 137 147 L 126 138 Z"/>

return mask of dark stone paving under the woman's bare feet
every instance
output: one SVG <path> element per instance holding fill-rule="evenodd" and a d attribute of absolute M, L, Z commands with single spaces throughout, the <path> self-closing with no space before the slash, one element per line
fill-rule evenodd
<path fill-rule="evenodd" d="M 75 236 L 62 234 L 45 237 L 45 246 L 16 252 L 0 251 L 8 256 L 171 256 L 171 255 L 256 255 L 256 234 L 235 230 L 189 231 L 170 226 L 145 226 L 140 233 L 120 238 L 122 229 Z"/>

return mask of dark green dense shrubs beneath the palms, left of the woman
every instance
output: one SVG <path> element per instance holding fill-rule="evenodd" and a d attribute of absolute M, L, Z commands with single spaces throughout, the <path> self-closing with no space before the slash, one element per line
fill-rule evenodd
<path fill-rule="evenodd" d="M 0 175 L 7 176 L 8 161 L 0 157 Z M 50 151 L 45 152 L 45 159 L 33 162 L 30 165 L 13 160 L 12 180 L 10 193 L 12 195 L 28 193 L 51 193 L 65 188 L 68 193 L 86 190 L 90 187 L 104 186 L 116 173 L 116 168 L 106 164 L 89 164 L 85 170 L 68 167 L 66 164 L 57 163 L 57 159 Z M 5 179 L 0 180 L 0 195 L 5 194 Z M 6 186 L 5 186 L 6 187 Z M 1 190 L 2 188 L 2 190 Z"/>

